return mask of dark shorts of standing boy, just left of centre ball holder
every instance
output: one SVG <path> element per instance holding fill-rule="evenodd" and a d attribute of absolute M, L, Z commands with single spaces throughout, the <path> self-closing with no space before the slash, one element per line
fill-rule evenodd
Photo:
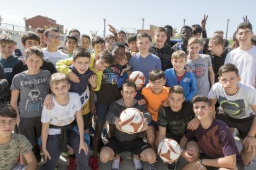
<path fill-rule="evenodd" d="M 106 122 L 106 114 L 108 113 L 109 105 L 108 104 L 96 104 L 96 115 L 97 120 L 96 124 L 103 125 Z"/>

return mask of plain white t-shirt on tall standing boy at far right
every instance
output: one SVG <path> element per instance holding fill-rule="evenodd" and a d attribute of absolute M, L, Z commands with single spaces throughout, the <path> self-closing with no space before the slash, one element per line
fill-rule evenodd
<path fill-rule="evenodd" d="M 236 65 L 241 75 L 241 83 L 256 88 L 256 46 L 247 51 L 241 50 L 239 47 L 229 52 L 226 63 Z"/>

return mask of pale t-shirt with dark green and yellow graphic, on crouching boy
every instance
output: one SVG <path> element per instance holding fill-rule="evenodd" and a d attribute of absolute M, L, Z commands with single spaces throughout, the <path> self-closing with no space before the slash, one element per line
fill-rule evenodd
<path fill-rule="evenodd" d="M 250 105 L 256 105 L 256 89 L 238 83 L 238 91 L 234 95 L 228 95 L 221 86 L 215 83 L 208 95 L 209 99 L 218 99 L 221 110 L 232 118 L 242 119 L 255 115 Z"/>

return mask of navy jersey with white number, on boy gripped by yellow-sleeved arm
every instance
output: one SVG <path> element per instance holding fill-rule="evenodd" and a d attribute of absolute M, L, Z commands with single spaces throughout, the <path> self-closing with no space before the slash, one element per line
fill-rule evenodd
<path fill-rule="evenodd" d="M 80 95 L 80 100 L 82 104 L 82 115 L 86 115 L 90 113 L 90 83 L 88 79 L 93 75 L 93 71 L 88 68 L 87 71 L 83 75 L 80 75 L 79 72 L 75 69 L 75 67 L 70 67 L 70 69 L 79 77 L 80 82 L 75 83 L 73 81 L 69 81 L 70 89 L 69 92 L 77 92 Z"/>

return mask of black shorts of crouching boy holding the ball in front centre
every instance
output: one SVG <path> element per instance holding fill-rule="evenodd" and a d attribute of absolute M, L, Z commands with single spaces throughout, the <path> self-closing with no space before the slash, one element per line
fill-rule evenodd
<path fill-rule="evenodd" d="M 150 144 L 140 137 L 130 142 L 119 142 L 116 139 L 111 139 L 104 147 L 111 148 L 115 155 L 122 152 L 131 152 L 135 155 L 140 155 L 143 150 L 151 148 Z"/>

